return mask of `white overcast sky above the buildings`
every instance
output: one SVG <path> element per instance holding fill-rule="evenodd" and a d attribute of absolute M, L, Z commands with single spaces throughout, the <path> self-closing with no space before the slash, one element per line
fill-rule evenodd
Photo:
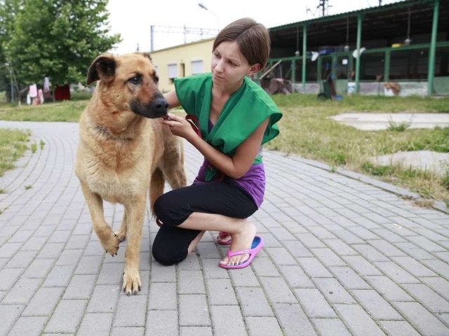
<path fill-rule="evenodd" d="M 401 0 L 382 0 L 389 4 Z M 207 10 L 201 8 L 202 3 Z M 261 3 L 264 3 L 263 5 Z M 201 39 L 188 31 L 212 33 L 228 23 L 250 17 L 266 27 L 319 18 L 319 0 L 109 0 L 109 26 L 123 41 L 112 52 L 149 51 L 154 26 L 154 50 Z M 379 0 L 328 0 L 328 15 L 379 5 Z M 213 37 L 214 35 L 203 37 Z"/>

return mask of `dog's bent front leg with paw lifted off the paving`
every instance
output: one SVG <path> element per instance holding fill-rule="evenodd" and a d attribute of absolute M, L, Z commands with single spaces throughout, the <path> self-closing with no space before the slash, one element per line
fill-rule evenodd
<path fill-rule="evenodd" d="M 93 230 L 100 239 L 100 244 L 105 251 L 111 255 L 116 255 L 119 251 L 119 239 L 112 232 L 111 227 L 106 223 L 105 213 L 103 211 L 103 200 L 100 195 L 93 193 L 87 184 L 81 181 L 81 189 L 91 213 Z"/>

